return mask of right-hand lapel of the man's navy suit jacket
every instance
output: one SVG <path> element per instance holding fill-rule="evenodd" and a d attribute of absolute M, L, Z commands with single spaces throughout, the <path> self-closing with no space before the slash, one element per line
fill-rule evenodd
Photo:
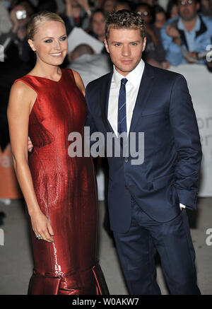
<path fill-rule="evenodd" d="M 145 63 L 143 76 L 141 78 L 141 84 L 139 87 L 139 93 L 136 98 L 136 104 L 131 118 L 131 125 L 129 132 L 135 131 L 136 123 L 139 121 L 143 109 L 144 107 L 146 107 L 148 103 L 148 97 L 151 94 L 151 90 L 153 87 L 153 78 L 154 78 L 153 68 L 149 64 Z"/>

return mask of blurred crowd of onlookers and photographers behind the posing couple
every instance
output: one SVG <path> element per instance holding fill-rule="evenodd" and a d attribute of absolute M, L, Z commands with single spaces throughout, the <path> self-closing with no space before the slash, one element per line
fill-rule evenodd
<path fill-rule="evenodd" d="M 160 0 L 1 1 L 0 42 L 4 46 L 4 61 L 10 59 L 10 63 L 11 60 L 16 63 L 18 60 L 27 69 L 33 66 L 35 57 L 28 46 L 26 28 L 37 11 L 59 13 L 65 21 L 67 35 L 74 27 L 80 27 L 103 42 L 107 13 L 127 9 L 141 14 L 146 23 L 147 45 L 143 54 L 146 62 L 164 69 L 170 64 L 199 62 L 206 63 L 210 69 L 210 63 L 199 54 L 211 44 L 212 1 L 170 0 L 166 5 L 164 1 L 161 4 L 163 6 Z M 21 12 L 25 15 L 21 16 Z"/>

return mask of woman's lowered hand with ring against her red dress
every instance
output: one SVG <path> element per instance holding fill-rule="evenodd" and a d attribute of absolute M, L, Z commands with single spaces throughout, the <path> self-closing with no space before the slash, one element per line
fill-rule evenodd
<path fill-rule="evenodd" d="M 35 235 L 40 236 L 42 240 L 47 241 L 48 243 L 54 243 L 52 235 L 54 235 L 52 226 L 47 217 L 42 214 L 42 211 L 35 211 L 33 214 L 30 214 L 33 231 Z"/>

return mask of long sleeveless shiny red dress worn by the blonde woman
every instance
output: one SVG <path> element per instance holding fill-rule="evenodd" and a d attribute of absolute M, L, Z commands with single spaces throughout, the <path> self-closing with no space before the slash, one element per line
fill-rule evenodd
<path fill-rule="evenodd" d="M 27 83 L 37 93 L 29 117 L 33 151 L 28 163 L 37 202 L 54 231 L 54 243 L 37 240 L 30 223 L 34 272 L 28 293 L 106 295 L 96 252 L 98 202 L 93 161 L 68 154 L 69 133 L 83 135 L 87 113 L 83 93 L 70 69 L 61 69 L 59 81 L 30 75 L 16 81 Z"/>

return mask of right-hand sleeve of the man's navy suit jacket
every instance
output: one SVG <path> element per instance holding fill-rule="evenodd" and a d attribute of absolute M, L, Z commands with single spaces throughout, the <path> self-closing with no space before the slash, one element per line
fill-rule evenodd
<path fill-rule="evenodd" d="M 201 142 L 187 81 L 182 75 L 177 76 L 172 86 L 170 124 L 178 153 L 175 187 L 179 202 L 188 209 L 196 209 L 197 180 L 202 157 Z"/>

